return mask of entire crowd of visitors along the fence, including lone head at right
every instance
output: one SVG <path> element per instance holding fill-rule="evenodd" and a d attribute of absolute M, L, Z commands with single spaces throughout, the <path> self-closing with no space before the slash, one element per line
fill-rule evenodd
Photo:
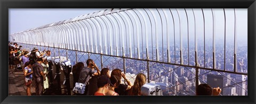
<path fill-rule="evenodd" d="M 47 68 L 49 64 L 46 60 L 51 55 L 51 51 L 38 51 L 34 47 L 30 52 L 22 49 L 17 43 L 9 42 L 9 65 L 13 68 L 18 60 L 23 64 L 22 71 L 24 73 L 25 85 L 27 86 L 27 96 L 31 96 L 31 81 L 35 81 L 36 96 L 41 96 L 43 91 L 49 88 L 47 79 Z M 147 83 L 145 74 L 137 74 L 134 83 L 129 81 L 125 74 L 118 68 L 111 71 L 109 68 L 98 68 L 92 59 L 86 60 L 86 66 L 83 62 L 76 63 L 72 68 L 73 86 L 75 83 L 86 84 L 84 94 L 76 94 L 77 96 L 141 96 L 141 86 Z M 127 84 L 121 83 L 124 79 Z M 197 96 L 218 96 L 221 92 L 220 88 L 211 88 L 208 84 L 200 84 L 197 87 Z"/>

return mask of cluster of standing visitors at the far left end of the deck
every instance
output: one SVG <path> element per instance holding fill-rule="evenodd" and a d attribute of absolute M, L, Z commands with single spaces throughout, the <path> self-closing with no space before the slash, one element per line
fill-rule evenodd
<path fill-rule="evenodd" d="M 27 86 L 27 96 L 31 96 L 31 84 L 35 82 L 36 96 L 41 96 L 43 91 L 49 88 L 47 79 L 47 68 L 49 67 L 46 57 L 51 55 L 51 51 L 38 51 L 37 47 L 29 51 L 22 49 L 17 43 L 9 42 L 9 68 L 17 68 L 17 64 L 22 64 L 24 82 Z"/>

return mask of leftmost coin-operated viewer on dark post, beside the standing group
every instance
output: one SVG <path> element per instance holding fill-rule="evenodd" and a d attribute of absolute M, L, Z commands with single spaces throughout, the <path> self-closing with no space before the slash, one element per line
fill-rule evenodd
<path fill-rule="evenodd" d="M 53 60 L 54 65 L 56 66 L 56 73 L 54 76 L 54 80 L 57 80 L 57 93 L 61 94 L 61 86 L 60 86 L 60 59 L 59 58 L 55 58 Z"/>

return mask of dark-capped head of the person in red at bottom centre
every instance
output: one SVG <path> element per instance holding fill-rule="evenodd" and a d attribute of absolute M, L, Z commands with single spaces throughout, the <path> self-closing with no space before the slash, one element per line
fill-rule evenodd
<path fill-rule="evenodd" d="M 108 89 L 110 84 L 111 84 L 111 81 L 110 81 L 110 79 L 107 75 L 99 76 L 99 79 L 98 79 L 98 82 L 97 82 L 98 88 Z"/>

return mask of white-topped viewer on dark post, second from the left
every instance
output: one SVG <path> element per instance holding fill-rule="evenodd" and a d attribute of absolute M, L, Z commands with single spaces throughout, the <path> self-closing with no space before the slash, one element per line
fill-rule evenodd
<path fill-rule="evenodd" d="M 63 84 L 67 86 L 68 96 L 71 96 L 69 74 L 72 70 L 72 67 L 71 67 L 70 60 L 65 60 L 65 61 L 61 62 L 60 65 L 62 66 L 63 72 L 65 74 L 65 80 L 64 80 Z"/>

